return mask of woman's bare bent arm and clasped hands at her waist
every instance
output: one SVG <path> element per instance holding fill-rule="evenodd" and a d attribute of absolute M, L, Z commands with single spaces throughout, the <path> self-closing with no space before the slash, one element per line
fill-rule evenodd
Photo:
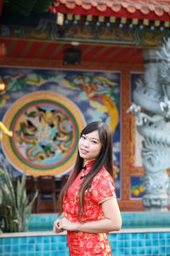
<path fill-rule="evenodd" d="M 84 224 L 72 223 L 67 218 L 62 218 L 59 221 L 59 229 L 70 231 L 82 231 L 88 233 L 108 233 L 118 231 L 122 227 L 121 213 L 116 201 L 116 198 L 110 198 L 102 203 L 105 218 L 87 222 Z"/>

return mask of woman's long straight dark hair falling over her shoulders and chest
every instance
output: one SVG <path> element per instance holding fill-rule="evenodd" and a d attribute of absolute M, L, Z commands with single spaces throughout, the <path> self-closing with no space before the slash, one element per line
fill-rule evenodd
<path fill-rule="evenodd" d="M 96 157 L 94 161 L 94 165 L 92 166 L 90 172 L 88 172 L 88 176 L 83 179 L 81 187 L 79 189 L 79 208 L 78 208 L 78 218 L 80 218 L 81 213 L 83 212 L 84 207 L 84 194 L 87 189 L 90 188 L 91 183 L 93 182 L 94 177 L 101 170 L 103 166 L 107 172 L 111 174 L 111 177 L 114 178 L 113 172 L 113 143 L 112 143 L 112 131 L 111 127 L 106 123 L 95 121 L 88 124 L 81 132 L 80 137 L 84 134 L 88 134 L 92 131 L 99 131 L 99 140 L 102 144 L 99 155 Z M 73 180 L 77 177 L 78 173 L 81 172 L 83 165 L 83 159 L 77 150 L 77 160 L 74 166 L 74 170 L 71 174 L 71 177 L 65 183 L 63 189 L 59 194 L 59 215 L 63 212 L 63 198 L 66 197 L 68 189 L 73 182 Z"/>

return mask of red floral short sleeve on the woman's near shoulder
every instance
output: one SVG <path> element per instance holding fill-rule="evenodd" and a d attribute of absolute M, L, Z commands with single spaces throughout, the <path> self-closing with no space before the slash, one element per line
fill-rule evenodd
<path fill-rule="evenodd" d="M 92 200 L 96 203 L 102 203 L 109 198 L 116 197 L 114 181 L 107 171 L 99 173 L 94 178 L 93 186 L 90 190 Z"/>

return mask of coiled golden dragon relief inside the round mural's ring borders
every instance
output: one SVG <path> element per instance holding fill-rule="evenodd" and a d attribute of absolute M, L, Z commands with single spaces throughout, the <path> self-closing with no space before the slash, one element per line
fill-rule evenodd
<path fill-rule="evenodd" d="M 53 109 L 36 107 L 24 113 L 16 126 L 15 136 L 20 146 L 25 145 L 26 159 L 41 164 L 55 158 L 56 154 L 58 158 L 65 157 L 72 146 L 69 119 Z"/>

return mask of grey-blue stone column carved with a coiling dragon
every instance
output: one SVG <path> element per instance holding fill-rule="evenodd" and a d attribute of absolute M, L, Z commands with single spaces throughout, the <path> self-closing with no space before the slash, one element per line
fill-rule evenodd
<path fill-rule="evenodd" d="M 144 49 L 144 78 L 136 83 L 133 113 L 143 137 L 145 210 L 167 211 L 170 167 L 170 38 L 161 49 Z"/>

